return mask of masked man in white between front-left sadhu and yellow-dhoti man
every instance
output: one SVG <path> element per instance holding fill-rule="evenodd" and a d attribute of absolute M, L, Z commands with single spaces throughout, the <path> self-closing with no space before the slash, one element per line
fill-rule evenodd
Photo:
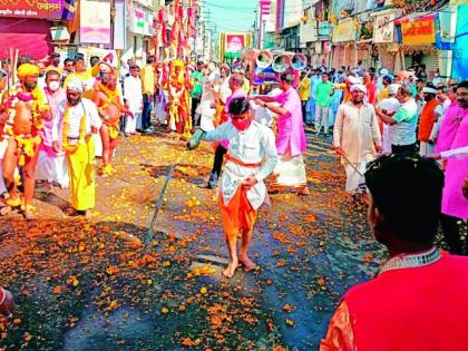
<path fill-rule="evenodd" d="M 65 90 L 60 88 L 60 74 L 55 69 L 49 69 L 46 74 L 47 87 L 43 89 L 47 103 L 53 116 L 57 116 L 58 107 L 67 98 Z M 39 162 L 36 169 L 36 179 L 47 181 L 47 188 L 52 188 L 52 183 L 57 183 L 61 188 L 68 187 L 69 177 L 65 153 L 58 152 L 52 147 L 53 120 L 42 123 L 43 128 L 40 133 L 42 144 L 39 150 Z"/>

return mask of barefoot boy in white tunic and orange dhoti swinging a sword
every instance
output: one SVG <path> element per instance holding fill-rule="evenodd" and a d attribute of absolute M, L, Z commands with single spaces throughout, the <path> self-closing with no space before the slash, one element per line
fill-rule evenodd
<path fill-rule="evenodd" d="M 301 105 L 300 105 L 301 106 Z M 228 105 L 231 121 L 215 130 L 198 130 L 187 142 L 188 148 L 195 148 L 203 138 L 207 142 L 230 142 L 228 157 L 220 185 L 218 206 L 230 263 L 223 271 L 232 277 L 242 263 L 246 271 L 255 264 L 248 257 L 248 246 L 255 225 L 257 209 L 269 203 L 266 186 L 263 183 L 277 162 L 273 131 L 253 120 L 250 103 L 246 98 L 233 98 Z M 237 234 L 242 234 L 241 250 L 237 254 Z"/>

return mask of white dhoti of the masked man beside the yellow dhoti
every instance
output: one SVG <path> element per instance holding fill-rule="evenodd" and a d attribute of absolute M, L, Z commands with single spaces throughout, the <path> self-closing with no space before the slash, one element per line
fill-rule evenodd
<path fill-rule="evenodd" d="M 47 181 L 48 183 L 55 182 L 61 187 L 68 187 L 70 178 L 65 154 L 57 155 L 50 149 L 41 148 L 38 157 L 36 179 Z"/>

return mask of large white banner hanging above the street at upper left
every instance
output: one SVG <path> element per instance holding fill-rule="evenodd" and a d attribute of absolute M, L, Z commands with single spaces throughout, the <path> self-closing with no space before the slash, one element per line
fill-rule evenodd
<path fill-rule="evenodd" d="M 81 43 L 110 43 L 110 3 L 81 0 Z"/>

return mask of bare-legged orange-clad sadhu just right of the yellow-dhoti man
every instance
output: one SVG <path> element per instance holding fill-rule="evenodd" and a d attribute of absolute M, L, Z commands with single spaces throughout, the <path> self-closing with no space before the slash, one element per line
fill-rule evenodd
<path fill-rule="evenodd" d="M 96 104 L 103 120 L 103 126 L 100 127 L 103 168 L 100 174 L 104 177 L 108 177 L 113 173 L 111 162 L 114 150 L 117 147 L 120 117 L 123 114 L 127 114 L 134 118 L 133 113 L 121 104 L 114 69 L 105 74 L 100 82 L 95 87 L 92 103 Z"/>

